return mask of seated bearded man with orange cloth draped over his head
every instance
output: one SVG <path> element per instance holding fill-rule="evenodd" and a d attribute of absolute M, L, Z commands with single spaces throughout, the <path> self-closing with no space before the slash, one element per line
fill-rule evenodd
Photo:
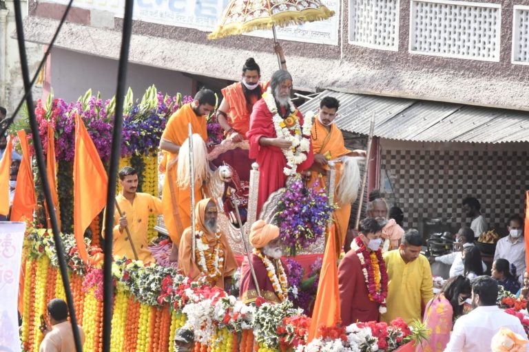
<path fill-rule="evenodd" d="M 211 285 L 224 289 L 229 287 L 238 265 L 225 234 L 217 228 L 217 214 L 217 204 L 213 198 L 196 203 L 195 259 L 192 256 L 193 238 L 189 227 L 180 239 L 178 268 L 185 276 L 192 279 L 205 276 Z M 202 260 L 205 265 L 201 263 Z"/>

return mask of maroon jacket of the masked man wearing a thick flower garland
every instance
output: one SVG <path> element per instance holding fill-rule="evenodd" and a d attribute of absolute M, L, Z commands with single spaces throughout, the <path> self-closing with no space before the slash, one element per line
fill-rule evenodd
<path fill-rule="evenodd" d="M 347 252 L 338 266 L 342 326 L 380 319 L 377 302 L 369 299 L 362 263 L 355 251 Z"/>

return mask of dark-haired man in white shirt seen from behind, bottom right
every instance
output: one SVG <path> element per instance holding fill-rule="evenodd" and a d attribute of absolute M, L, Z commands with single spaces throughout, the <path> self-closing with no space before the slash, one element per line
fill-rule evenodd
<path fill-rule="evenodd" d="M 502 327 L 526 336 L 520 320 L 497 307 L 497 297 L 498 284 L 493 278 L 478 276 L 473 280 L 472 305 L 475 309 L 455 321 L 450 342 L 444 352 L 492 351 L 492 336 Z"/>

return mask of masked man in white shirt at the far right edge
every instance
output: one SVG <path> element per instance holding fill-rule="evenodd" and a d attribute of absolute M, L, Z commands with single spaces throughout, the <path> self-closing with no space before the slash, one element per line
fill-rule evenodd
<path fill-rule="evenodd" d="M 522 276 L 526 272 L 526 243 L 523 239 L 523 219 L 519 215 L 509 218 L 508 236 L 500 239 L 496 243 L 494 260 L 507 259 L 509 263 L 515 265 L 516 272 Z"/>

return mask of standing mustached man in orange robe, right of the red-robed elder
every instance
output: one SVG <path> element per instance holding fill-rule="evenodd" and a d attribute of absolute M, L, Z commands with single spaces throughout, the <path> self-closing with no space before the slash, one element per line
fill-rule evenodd
<path fill-rule="evenodd" d="M 350 151 L 345 147 L 344 136 L 338 129 L 334 120 L 338 114 L 340 102 L 336 98 L 326 96 L 320 102 L 320 112 L 315 118 L 311 129 L 311 140 L 314 152 L 313 172 L 311 175 L 310 185 L 319 179 L 320 187 L 326 185 L 326 171 L 329 170 L 328 160 L 336 159 L 344 155 L 347 156 L 364 156 L 365 151 Z M 342 175 L 342 164 L 336 164 L 335 185 L 338 185 Z M 338 201 L 335 197 L 335 201 Z M 338 209 L 333 212 L 335 222 L 336 252 L 340 255 L 344 246 L 345 235 L 351 216 L 351 204 L 338 203 Z"/>

